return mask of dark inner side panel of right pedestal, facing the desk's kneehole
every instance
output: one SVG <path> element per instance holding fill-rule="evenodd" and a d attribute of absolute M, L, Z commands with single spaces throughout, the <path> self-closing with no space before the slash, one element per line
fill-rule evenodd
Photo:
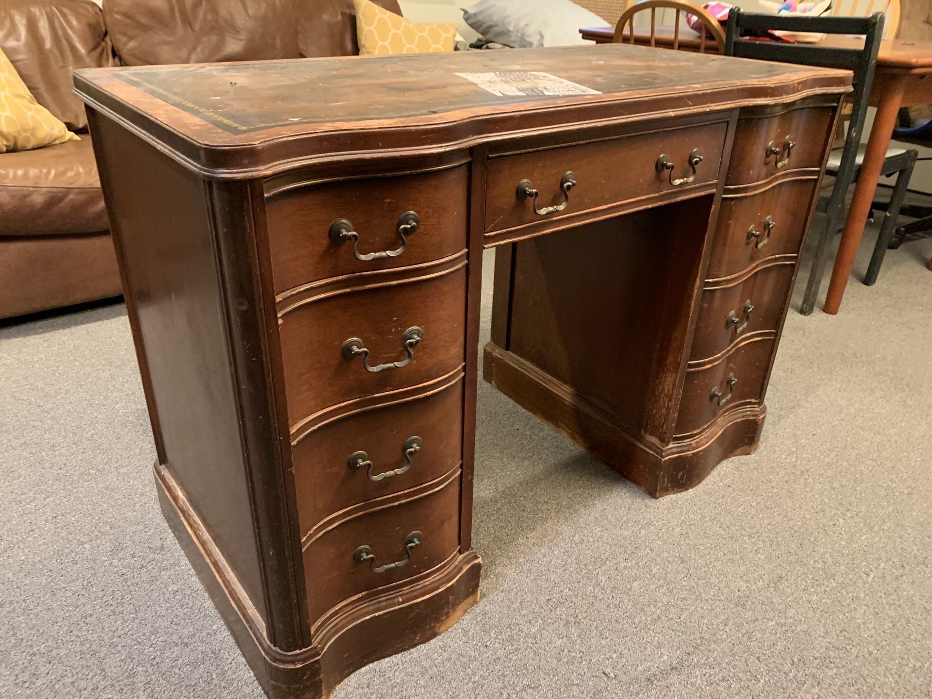
<path fill-rule="evenodd" d="M 711 204 L 690 199 L 516 243 L 508 349 L 629 432 L 663 439 L 664 420 L 651 416 L 675 410 L 683 308 Z M 668 378 L 672 389 L 657 393 Z"/>

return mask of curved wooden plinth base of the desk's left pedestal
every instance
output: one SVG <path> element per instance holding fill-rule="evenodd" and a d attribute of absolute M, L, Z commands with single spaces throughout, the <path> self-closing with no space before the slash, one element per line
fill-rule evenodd
<path fill-rule="evenodd" d="M 324 699 L 363 665 L 439 636 L 479 601 L 482 561 L 470 549 L 417 583 L 344 602 L 308 648 L 281 651 L 171 474 L 155 471 L 162 514 L 269 699 Z"/>

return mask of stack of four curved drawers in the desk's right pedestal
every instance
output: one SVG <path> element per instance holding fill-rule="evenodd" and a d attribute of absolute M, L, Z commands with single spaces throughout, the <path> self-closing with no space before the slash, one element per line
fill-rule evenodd
<path fill-rule="evenodd" d="M 743 112 L 679 404 L 679 442 L 763 401 L 816 196 L 834 103 Z M 809 134 L 818 134 L 811 140 Z"/>

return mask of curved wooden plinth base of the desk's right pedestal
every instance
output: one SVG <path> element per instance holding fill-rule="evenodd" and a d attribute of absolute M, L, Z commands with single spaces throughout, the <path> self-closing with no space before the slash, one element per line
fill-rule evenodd
<path fill-rule="evenodd" d="M 624 475 L 653 498 L 698 486 L 719 463 L 752 454 L 767 408 L 741 406 L 689 440 L 660 445 L 621 428 L 569 386 L 493 343 L 486 346 L 488 383 Z"/>

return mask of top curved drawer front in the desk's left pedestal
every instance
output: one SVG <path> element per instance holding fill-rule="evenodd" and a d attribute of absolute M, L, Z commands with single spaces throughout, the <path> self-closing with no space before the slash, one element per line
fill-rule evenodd
<path fill-rule="evenodd" d="M 298 187 L 266 202 L 275 292 L 308 281 L 386 267 L 404 267 L 466 248 L 467 166 L 395 177 L 364 178 Z M 397 250 L 399 217 L 418 214 L 402 254 L 359 260 L 353 242 L 336 244 L 330 226 L 347 219 L 359 234 L 360 254 Z"/>

